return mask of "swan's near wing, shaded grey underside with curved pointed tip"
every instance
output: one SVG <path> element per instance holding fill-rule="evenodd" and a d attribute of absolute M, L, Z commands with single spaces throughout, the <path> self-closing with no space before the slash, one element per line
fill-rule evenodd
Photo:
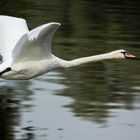
<path fill-rule="evenodd" d="M 13 50 L 13 63 L 49 58 L 53 35 L 60 23 L 39 26 L 22 36 Z"/>

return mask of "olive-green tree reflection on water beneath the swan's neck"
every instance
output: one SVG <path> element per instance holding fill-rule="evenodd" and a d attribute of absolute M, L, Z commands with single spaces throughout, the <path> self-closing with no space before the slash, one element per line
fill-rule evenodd
<path fill-rule="evenodd" d="M 112 62 L 104 62 L 64 72 L 67 79 L 61 82 L 68 88 L 58 94 L 74 99 L 65 107 L 71 108 L 76 116 L 98 123 L 111 117 L 113 109 L 134 109 L 136 94 L 132 87 L 136 83 L 132 81 L 133 76 L 127 72 L 128 67 L 112 67 Z"/>

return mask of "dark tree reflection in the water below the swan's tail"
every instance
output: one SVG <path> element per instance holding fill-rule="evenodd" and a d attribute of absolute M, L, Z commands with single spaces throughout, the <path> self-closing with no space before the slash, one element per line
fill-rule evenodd
<path fill-rule="evenodd" d="M 22 101 L 30 100 L 29 82 L 6 82 L 0 86 L 0 139 L 14 140 L 14 126 L 19 125 Z M 29 107 L 29 106 L 28 106 Z"/>

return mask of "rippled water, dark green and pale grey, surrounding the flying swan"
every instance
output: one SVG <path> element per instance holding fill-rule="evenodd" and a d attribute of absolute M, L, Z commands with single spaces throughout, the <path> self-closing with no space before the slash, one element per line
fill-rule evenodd
<path fill-rule="evenodd" d="M 59 57 L 74 59 L 123 48 L 138 60 L 86 64 L 29 81 L 1 80 L 0 139 L 136 140 L 139 6 L 139 1 L 130 0 L 1 1 L 1 14 L 26 18 L 29 28 L 61 22 L 53 43 Z"/>

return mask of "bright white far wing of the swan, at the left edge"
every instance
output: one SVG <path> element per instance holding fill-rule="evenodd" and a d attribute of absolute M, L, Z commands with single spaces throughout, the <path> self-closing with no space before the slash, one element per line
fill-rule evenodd
<path fill-rule="evenodd" d="M 24 19 L 0 16 L 0 54 L 4 62 L 11 63 L 12 50 L 25 33 L 28 28 Z"/>

